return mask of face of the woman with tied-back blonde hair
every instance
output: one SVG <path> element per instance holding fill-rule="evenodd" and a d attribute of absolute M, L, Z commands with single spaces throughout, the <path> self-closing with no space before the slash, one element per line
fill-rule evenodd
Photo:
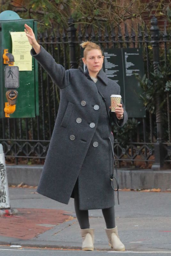
<path fill-rule="evenodd" d="M 103 59 L 104 56 L 102 56 L 102 53 L 98 49 L 93 49 L 89 52 L 87 52 L 86 59 L 82 58 L 82 61 L 85 65 L 87 65 L 87 68 L 90 73 L 98 73 L 103 65 Z"/>

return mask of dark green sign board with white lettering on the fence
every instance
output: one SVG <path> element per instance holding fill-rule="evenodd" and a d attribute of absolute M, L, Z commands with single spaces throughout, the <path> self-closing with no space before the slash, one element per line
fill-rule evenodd
<path fill-rule="evenodd" d="M 144 76 L 142 48 L 116 48 L 104 50 L 104 71 L 108 78 L 120 85 L 128 117 L 145 117 L 140 94 L 143 92 L 135 74 Z"/>

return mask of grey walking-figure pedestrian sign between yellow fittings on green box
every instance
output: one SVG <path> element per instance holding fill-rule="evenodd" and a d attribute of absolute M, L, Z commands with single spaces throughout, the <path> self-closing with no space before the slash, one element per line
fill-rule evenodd
<path fill-rule="evenodd" d="M 17 66 L 5 67 L 5 87 L 6 88 L 19 87 L 19 67 Z"/>

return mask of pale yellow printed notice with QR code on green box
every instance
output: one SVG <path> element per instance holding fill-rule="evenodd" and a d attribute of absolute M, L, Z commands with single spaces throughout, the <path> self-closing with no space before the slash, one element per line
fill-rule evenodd
<path fill-rule="evenodd" d="M 32 56 L 30 50 L 32 46 L 28 42 L 25 32 L 11 32 L 12 38 L 12 54 L 15 60 L 15 66 L 19 67 L 19 71 L 32 70 Z"/>

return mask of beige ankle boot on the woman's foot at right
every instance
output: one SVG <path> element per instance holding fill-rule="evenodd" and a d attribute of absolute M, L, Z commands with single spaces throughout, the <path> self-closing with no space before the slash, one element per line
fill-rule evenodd
<path fill-rule="evenodd" d="M 125 245 L 122 244 L 118 236 L 117 226 L 115 228 L 105 228 L 105 231 L 108 237 L 110 247 L 113 248 L 115 251 L 125 251 Z"/>

